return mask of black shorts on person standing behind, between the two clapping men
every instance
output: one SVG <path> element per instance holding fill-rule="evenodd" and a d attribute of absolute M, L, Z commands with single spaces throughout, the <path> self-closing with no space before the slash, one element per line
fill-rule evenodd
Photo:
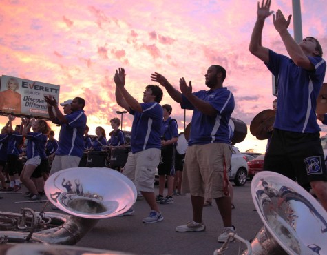
<path fill-rule="evenodd" d="M 158 165 L 158 175 L 175 175 L 175 146 L 167 145 L 161 149 L 161 161 Z"/>

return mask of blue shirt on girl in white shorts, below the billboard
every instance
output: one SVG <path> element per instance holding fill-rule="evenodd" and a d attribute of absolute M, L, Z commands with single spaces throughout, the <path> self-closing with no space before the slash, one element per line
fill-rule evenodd
<path fill-rule="evenodd" d="M 28 132 L 26 139 L 28 139 L 28 146 L 26 156 L 28 159 L 40 156 L 45 159 L 45 143 L 47 143 L 47 136 L 41 132 Z"/>

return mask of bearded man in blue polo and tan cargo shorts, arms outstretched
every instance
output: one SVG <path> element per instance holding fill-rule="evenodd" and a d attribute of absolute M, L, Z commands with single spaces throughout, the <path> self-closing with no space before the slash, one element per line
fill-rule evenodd
<path fill-rule="evenodd" d="M 187 85 L 180 79 L 180 92 L 167 79 L 155 72 L 152 81 L 164 86 L 182 108 L 193 110 L 189 146 L 184 161 L 182 192 L 190 192 L 193 221 L 176 227 L 177 232 L 204 231 L 202 221 L 204 196 L 215 199 L 222 216 L 224 230 L 218 242 L 224 243 L 230 232 L 235 232 L 231 218 L 231 197 L 227 171 L 231 165 L 231 134 L 229 119 L 234 110 L 233 94 L 223 87 L 226 70 L 220 65 L 211 65 L 205 76 L 210 90 L 192 92 L 191 81 Z"/>

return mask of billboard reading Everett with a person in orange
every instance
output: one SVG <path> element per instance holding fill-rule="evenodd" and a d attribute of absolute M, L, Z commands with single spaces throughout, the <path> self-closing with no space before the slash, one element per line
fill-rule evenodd
<path fill-rule="evenodd" d="M 0 85 L 0 111 L 18 116 L 49 119 L 44 96 L 59 102 L 59 85 L 3 75 Z"/>

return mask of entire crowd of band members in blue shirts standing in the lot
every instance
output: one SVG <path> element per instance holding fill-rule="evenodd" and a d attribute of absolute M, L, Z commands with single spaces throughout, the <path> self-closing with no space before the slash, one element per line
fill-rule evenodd
<path fill-rule="evenodd" d="M 287 30 L 291 16 L 286 20 L 280 10 L 273 15 L 273 24 L 290 57 L 262 46 L 264 21 L 273 13 L 270 5 L 270 0 L 258 3 L 257 20 L 249 44 L 250 52 L 262 60 L 277 77 L 276 119 L 264 169 L 284 174 L 307 189 L 312 187 L 321 205 L 327 210 L 327 171 L 315 114 L 326 62 L 322 59 L 322 50 L 317 39 L 306 37 L 300 43 L 294 41 Z M 125 76 L 124 68 L 118 68 L 114 74 L 116 102 L 134 116 L 131 150 L 123 167 L 123 174 L 134 182 L 149 206 L 149 215 L 143 218 L 143 222 L 162 221 L 164 216 L 160 206 L 173 203 L 173 194 L 189 193 L 192 215 L 190 221 L 176 227 L 176 232 L 204 231 L 206 225 L 202 217 L 203 207 L 206 201 L 211 203 L 214 200 L 224 227 L 218 236 L 218 242 L 225 242 L 229 233 L 236 231 L 231 213 L 233 190 L 228 179 L 232 154 L 229 119 L 235 108 L 235 100 L 233 93 L 223 85 L 226 79 L 225 68 L 211 65 L 204 75 L 205 85 L 209 89 L 198 92 L 193 92 L 191 81 L 187 82 L 184 77 L 179 80 L 178 90 L 162 74 L 151 74 L 151 80 L 165 88 L 181 108 L 193 110 L 187 153 L 182 165 L 174 148 L 178 127 L 170 116 L 171 105 L 160 105 L 162 89 L 159 85 L 147 85 L 143 92 L 143 102 L 140 103 L 125 87 Z M 88 136 L 87 117 L 83 110 L 84 99 L 76 97 L 61 104 L 64 114 L 52 96 L 45 96 L 45 101 L 48 103 L 52 123 L 61 125 L 57 145 L 48 124 L 42 120 L 22 119 L 21 125 L 13 130 L 13 117 L 9 116 L 0 136 L 0 152 L 3 152 L 0 167 L 3 169 L 7 163 L 10 187 L 6 187 L 3 176 L 1 185 L 7 190 L 20 189 L 17 159 L 20 155 L 19 147 L 24 139 L 28 139 L 28 160 L 21 171 L 20 181 L 28 188 L 27 195 L 31 200 L 39 199 L 39 192 L 42 192 L 39 187 L 45 177 L 36 169 L 42 165 L 42 160 L 47 155 L 49 158 L 54 157 L 49 173 L 54 174 L 59 170 L 78 167 L 85 150 L 97 151 L 106 146 L 125 146 L 118 118 L 110 120 L 114 130 L 109 141 L 106 140 L 105 130 L 101 126 L 96 128 L 96 139 L 92 140 Z M 326 123 L 327 117 L 319 116 L 319 119 Z M 157 168 L 159 193 L 156 196 L 154 177 Z M 167 196 L 164 196 L 166 179 Z M 123 215 L 133 213 L 134 208 L 131 207 Z"/>

